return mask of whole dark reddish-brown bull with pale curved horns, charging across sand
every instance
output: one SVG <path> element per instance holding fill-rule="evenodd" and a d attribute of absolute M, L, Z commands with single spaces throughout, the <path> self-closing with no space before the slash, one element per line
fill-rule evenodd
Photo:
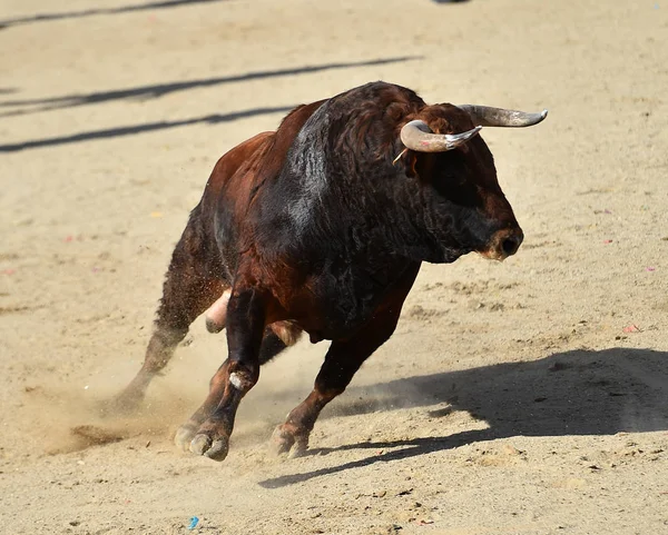
<path fill-rule="evenodd" d="M 232 149 L 176 245 L 144 365 L 118 406 L 141 402 L 208 310 L 208 330 L 227 329 L 228 356 L 175 442 L 223 460 L 261 366 L 306 333 L 332 344 L 313 390 L 271 439 L 278 454 L 305 452 L 323 407 L 394 331 L 421 262 L 518 250 L 522 230 L 479 132 L 546 116 L 428 106 L 373 82 L 301 106 Z"/>

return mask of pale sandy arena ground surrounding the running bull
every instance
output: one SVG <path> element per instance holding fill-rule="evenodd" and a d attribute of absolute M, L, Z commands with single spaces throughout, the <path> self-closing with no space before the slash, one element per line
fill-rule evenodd
<path fill-rule="evenodd" d="M 3 0 L 0 16 L 0 532 L 668 533 L 668 4 Z M 306 341 L 263 368 L 223 464 L 173 447 L 225 357 L 203 320 L 141 414 L 100 419 L 215 160 L 376 79 L 550 109 L 483 132 L 519 254 L 425 265 L 305 457 L 265 444 L 322 363 Z"/>

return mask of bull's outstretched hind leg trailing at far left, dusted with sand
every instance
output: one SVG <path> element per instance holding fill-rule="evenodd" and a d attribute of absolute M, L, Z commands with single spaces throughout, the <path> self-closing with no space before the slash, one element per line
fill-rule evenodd
<path fill-rule="evenodd" d="M 190 324 L 224 293 L 227 285 L 212 275 L 212 261 L 189 224 L 171 256 L 144 365 L 115 398 L 114 409 L 127 412 L 139 405 L 151 379 L 169 363 Z"/>

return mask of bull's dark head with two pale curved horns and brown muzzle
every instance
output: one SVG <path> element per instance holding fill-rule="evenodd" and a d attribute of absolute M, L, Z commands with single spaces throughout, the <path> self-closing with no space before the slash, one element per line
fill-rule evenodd
<path fill-rule="evenodd" d="M 533 126 L 547 115 L 436 105 L 403 126 L 401 140 L 412 151 L 407 167 L 423 185 L 425 224 L 444 260 L 471 250 L 494 260 L 515 254 L 522 229 L 499 186 L 492 153 L 478 133 L 482 127 Z"/>

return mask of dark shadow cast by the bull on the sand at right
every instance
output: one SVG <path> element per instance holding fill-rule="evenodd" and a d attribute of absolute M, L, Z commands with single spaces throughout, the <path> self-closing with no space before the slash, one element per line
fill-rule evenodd
<path fill-rule="evenodd" d="M 356 402 L 346 403 L 342 398 L 338 407 L 328 413 L 330 417 L 392 407 L 424 407 L 426 416 L 434 419 L 453 410 L 468 410 L 485 420 L 489 427 L 448 434 L 444 420 L 443 436 L 314 448 L 312 455 L 357 448 L 369 448 L 374 455 L 330 468 L 266 479 L 261 482 L 262 486 L 282 487 L 376 462 L 518 435 L 665 430 L 668 429 L 668 353 L 623 348 L 572 350 L 538 361 L 499 364 L 353 387 L 344 396 Z M 377 449 L 395 447 L 402 448 L 375 455 Z"/>

